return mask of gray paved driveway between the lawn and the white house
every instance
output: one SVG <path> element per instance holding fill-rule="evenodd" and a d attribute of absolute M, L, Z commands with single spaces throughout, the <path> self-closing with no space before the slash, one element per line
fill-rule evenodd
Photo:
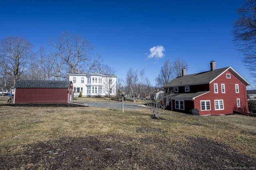
<path fill-rule="evenodd" d="M 80 102 L 88 104 L 89 107 L 109 107 L 109 108 L 121 108 L 122 109 L 122 102 Z M 133 104 L 133 103 L 125 103 L 124 102 L 124 109 L 145 109 L 144 104 Z"/>

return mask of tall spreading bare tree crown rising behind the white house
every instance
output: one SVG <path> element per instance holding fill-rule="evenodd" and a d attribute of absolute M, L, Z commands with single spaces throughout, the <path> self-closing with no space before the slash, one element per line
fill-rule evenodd
<path fill-rule="evenodd" d="M 61 57 L 66 66 L 65 71 L 75 73 L 79 68 L 84 68 L 86 73 L 90 72 L 100 61 L 100 56 L 94 56 L 92 44 L 82 35 L 62 32 L 58 41 L 51 40 L 51 44 L 58 50 L 56 57 Z M 66 74 L 66 73 L 62 73 Z"/>

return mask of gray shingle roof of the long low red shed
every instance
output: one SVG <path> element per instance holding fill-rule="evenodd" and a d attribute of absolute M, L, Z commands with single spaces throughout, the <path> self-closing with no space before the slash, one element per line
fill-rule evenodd
<path fill-rule="evenodd" d="M 14 88 L 69 88 L 71 81 L 19 80 Z"/>

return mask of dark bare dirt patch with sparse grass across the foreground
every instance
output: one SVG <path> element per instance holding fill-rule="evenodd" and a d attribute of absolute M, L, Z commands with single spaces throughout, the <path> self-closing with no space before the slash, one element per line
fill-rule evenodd
<path fill-rule="evenodd" d="M 169 140 L 169 139 L 168 139 Z M 232 169 L 254 167 L 256 160 L 228 145 L 205 138 L 170 144 L 154 137 L 126 138 L 97 135 L 61 138 L 0 149 L 1 169 Z"/>

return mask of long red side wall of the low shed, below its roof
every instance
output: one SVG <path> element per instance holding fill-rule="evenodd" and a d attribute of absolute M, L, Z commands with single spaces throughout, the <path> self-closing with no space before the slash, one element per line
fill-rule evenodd
<path fill-rule="evenodd" d="M 16 88 L 14 102 L 18 103 L 68 103 L 67 88 Z"/>

